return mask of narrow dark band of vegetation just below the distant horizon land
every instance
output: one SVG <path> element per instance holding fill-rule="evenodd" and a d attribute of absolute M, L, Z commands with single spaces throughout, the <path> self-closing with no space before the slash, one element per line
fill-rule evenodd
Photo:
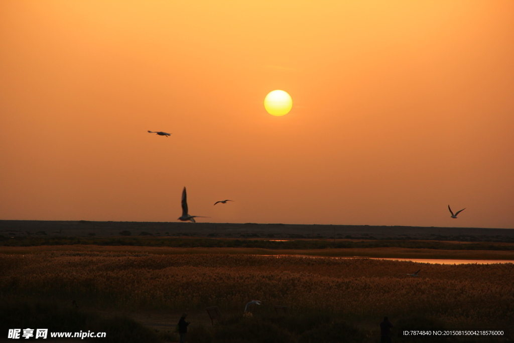
<path fill-rule="evenodd" d="M 42 245 L 99 245 L 99 246 L 150 246 L 176 248 L 262 248 L 262 249 L 328 249 L 328 248 L 412 248 L 436 250 L 496 250 L 514 251 L 514 244 L 495 242 L 439 242 L 404 240 L 251 240 L 251 239 L 208 239 L 208 238 L 80 238 L 80 237 L 4 237 L 0 246 L 42 246 Z"/>

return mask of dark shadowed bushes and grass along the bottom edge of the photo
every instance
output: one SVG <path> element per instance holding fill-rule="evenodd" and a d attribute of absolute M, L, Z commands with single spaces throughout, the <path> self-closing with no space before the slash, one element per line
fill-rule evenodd
<path fill-rule="evenodd" d="M 228 315 L 214 327 L 193 326 L 187 334 L 188 343 L 378 343 L 381 318 L 363 322 L 348 314 L 326 312 L 297 312 L 277 315 L 270 311 L 256 311 L 249 315 Z M 423 314 L 392 318 L 393 341 L 398 343 L 464 343 L 509 342 L 514 336 L 505 331 L 503 336 L 450 337 L 405 336 L 403 330 L 447 330 L 450 327 L 440 319 Z M 9 329 L 48 329 L 49 332 L 106 332 L 105 338 L 86 338 L 86 342 L 148 342 L 178 341 L 176 333 L 157 333 L 131 318 L 106 317 L 91 310 L 78 310 L 74 306 L 55 302 L 2 302 L 0 304 L 0 332 Z M 465 328 L 460 328 L 465 329 Z M 470 328 L 471 329 L 471 328 Z M 508 330 L 508 329 L 507 329 Z M 3 338 L 0 341 L 9 341 Z M 24 339 L 25 340 L 25 339 Z M 34 337 L 29 340 L 35 340 Z M 50 337 L 48 337 L 50 340 Z M 80 338 L 73 340 L 79 341 Z"/>

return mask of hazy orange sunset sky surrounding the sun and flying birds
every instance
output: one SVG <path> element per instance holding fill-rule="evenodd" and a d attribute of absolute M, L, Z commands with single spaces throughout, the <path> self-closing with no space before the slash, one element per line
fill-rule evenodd
<path fill-rule="evenodd" d="M 186 186 L 201 221 L 512 228 L 512 18 L 488 0 L 4 0 L 0 219 L 176 221 Z"/>

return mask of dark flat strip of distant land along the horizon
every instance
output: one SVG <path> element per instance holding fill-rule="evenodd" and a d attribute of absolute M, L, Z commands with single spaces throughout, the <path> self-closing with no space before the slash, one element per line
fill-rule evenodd
<path fill-rule="evenodd" d="M 132 237 L 438 240 L 514 243 L 513 229 L 497 228 L 0 220 L 0 235 L 5 237 L 116 237 L 123 236 L 123 231 L 130 232 Z"/>

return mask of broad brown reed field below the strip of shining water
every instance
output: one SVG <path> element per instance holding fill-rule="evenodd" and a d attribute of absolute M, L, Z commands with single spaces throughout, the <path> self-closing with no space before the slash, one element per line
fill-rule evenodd
<path fill-rule="evenodd" d="M 356 330 L 363 335 L 361 341 L 370 342 L 375 341 L 371 337 L 376 336 L 373 333 L 383 316 L 420 327 L 508 328 L 514 322 L 511 263 L 440 265 L 365 258 L 173 255 L 116 248 L 119 251 L 3 251 L 0 300 L 30 303 L 45 299 L 65 305 L 76 300 L 88 310 L 162 313 L 186 309 L 203 313 L 207 306 L 216 305 L 226 319 L 241 317 L 245 304 L 256 299 L 263 304 L 252 310 L 255 322 L 265 323 L 266 316 L 273 317 L 274 305 L 285 305 L 291 316 L 317 313 L 328 316 L 327 321 L 352 323 L 360 328 Z M 421 269 L 419 278 L 406 275 L 417 269 Z M 414 317 L 418 318 L 415 322 Z M 248 319 L 241 320 L 237 325 Z M 272 325 L 277 322 L 275 318 Z M 215 336 L 201 338 L 202 330 L 209 335 L 211 329 L 193 327 L 190 341 L 198 335 L 197 341 L 216 341 Z M 289 338 L 277 341 L 301 341 L 301 335 L 293 331 L 287 331 Z"/>

